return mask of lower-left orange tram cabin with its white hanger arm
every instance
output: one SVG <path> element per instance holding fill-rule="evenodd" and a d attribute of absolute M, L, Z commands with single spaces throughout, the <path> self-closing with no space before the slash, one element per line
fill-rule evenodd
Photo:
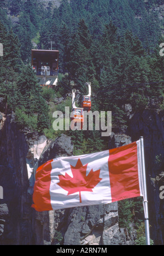
<path fill-rule="evenodd" d="M 75 92 L 76 90 L 72 90 L 72 114 L 71 114 L 71 129 L 74 126 L 80 124 L 81 129 L 83 128 L 84 116 L 83 116 L 83 108 L 77 108 L 75 106 Z"/>

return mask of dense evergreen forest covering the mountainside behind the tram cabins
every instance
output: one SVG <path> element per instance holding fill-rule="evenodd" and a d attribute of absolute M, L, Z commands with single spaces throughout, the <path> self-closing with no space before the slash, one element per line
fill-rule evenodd
<path fill-rule="evenodd" d="M 164 42 L 162 0 L 0 0 L 0 96 L 7 113 L 14 112 L 20 129 L 37 130 L 50 139 L 61 133 L 72 137 L 75 154 L 108 148 L 101 131 L 54 131 L 52 113 L 71 107 L 66 97 L 76 87 L 87 93 L 92 86 L 92 111 L 112 111 L 112 131 L 126 133 L 132 113 L 150 107 L 160 99 L 164 109 L 164 62 L 160 43 Z M 31 49 L 58 50 L 59 73 L 56 88 L 41 88 L 31 69 Z M 50 107 L 55 98 L 65 101 Z M 142 230 L 139 199 L 121 202 L 120 225 L 133 220 Z M 120 208 L 121 208 L 120 207 Z M 126 219 L 126 221 L 125 221 Z"/>

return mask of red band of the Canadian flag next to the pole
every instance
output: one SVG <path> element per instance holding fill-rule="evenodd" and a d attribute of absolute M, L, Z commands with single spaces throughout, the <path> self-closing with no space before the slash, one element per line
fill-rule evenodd
<path fill-rule="evenodd" d="M 140 196 L 136 142 L 110 149 L 108 166 L 112 202 Z"/>

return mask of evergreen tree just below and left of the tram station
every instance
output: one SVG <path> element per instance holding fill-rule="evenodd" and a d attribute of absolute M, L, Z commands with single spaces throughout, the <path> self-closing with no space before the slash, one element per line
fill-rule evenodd
<path fill-rule="evenodd" d="M 25 118 L 25 124 L 28 123 L 29 118 L 36 116 L 35 127 L 39 131 L 49 127 L 49 109 L 41 94 L 41 88 L 37 83 L 37 77 L 30 65 L 25 65 L 22 73 L 17 81 L 17 88 L 19 91 L 19 101 L 17 107 L 21 112 L 22 118 Z M 27 116 L 26 116 L 27 115 Z M 31 120 L 31 119 L 30 119 Z M 24 124 L 24 125 L 25 125 Z"/>

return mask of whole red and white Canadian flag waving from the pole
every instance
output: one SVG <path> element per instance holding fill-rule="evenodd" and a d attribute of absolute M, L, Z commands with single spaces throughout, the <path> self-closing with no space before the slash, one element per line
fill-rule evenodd
<path fill-rule="evenodd" d="M 36 171 L 38 212 L 143 196 L 139 141 L 106 151 L 49 160 Z"/>

